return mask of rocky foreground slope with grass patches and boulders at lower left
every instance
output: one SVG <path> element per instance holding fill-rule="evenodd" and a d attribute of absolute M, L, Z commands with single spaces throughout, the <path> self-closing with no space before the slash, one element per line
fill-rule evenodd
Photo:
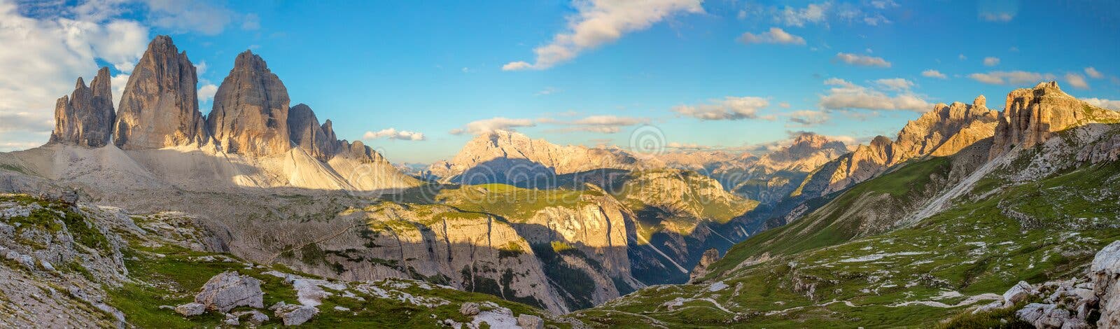
<path fill-rule="evenodd" d="M 422 281 L 346 282 L 213 252 L 181 213 L 0 195 L 0 327 L 581 327 Z"/>

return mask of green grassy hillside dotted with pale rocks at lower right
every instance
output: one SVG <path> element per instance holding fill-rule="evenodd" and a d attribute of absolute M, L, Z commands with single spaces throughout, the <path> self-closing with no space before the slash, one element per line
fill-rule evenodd
<path fill-rule="evenodd" d="M 943 172 L 940 170 L 948 162 L 911 166 L 915 164 L 920 167 L 904 167 L 856 188 L 905 198 L 907 194 L 890 192 L 930 184 L 923 178 L 928 176 L 921 172 Z M 881 178 L 893 181 L 878 181 Z M 995 190 L 997 180 L 992 177 L 989 187 L 974 190 Z M 799 231 L 813 234 L 791 235 L 800 241 L 784 239 L 777 235 L 781 231 L 771 231 L 752 239 L 772 244 L 748 239 L 737 245 L 739 251 L 721 261 L 722 273 L 708 278 L 707 282 L 729 286 L 722 291 L 710 292 L 706 285 L 646 288 L 575 316 L 612 327 L 645 327 L 645 317 L 652 317 L 666 327 L 696 328 L 1023 328 L 1008 311 L 971 314 L 962 313 L 963 307 L 890 304 L 954 304 L 968 295 L 1002 293 L 1018 281 L 1038 283 L 1082 275 L 1096 251 L 1120 239 L 1120 204 L 1103 201 L 1111 200 L 1118 184 L 1120 162 L 1082 166 L 1036 182 L 1001 187 L 980 200 L 961 198 L 955 206 L 915 225 L 880 234 L 848 238 L 847 227 L 836 223 L 802 226 Z M 1009 217 L 1005 209 L 1027 218 Z M 784 252 L 731 270 L 741 262 L 735 253 L 745 247 Z M 962 295 L 943 297 L 948 292 Z M 674 298 L 712 299 L 740 316 L 730 320 L 732 317 L 702 300 L 685 302 L 675 311 L 661 307 Z M 983 303 L 987 301 L 972 306 Z M 780 310 L 783 312 L 766 314 Z"/>

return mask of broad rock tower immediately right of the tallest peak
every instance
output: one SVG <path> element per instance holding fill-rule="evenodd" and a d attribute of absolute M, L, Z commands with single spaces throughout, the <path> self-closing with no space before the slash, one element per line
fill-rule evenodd
<path fill-rule="evenodd" d="M 245 50 L 214 94 L 207 126 L 230 153 L 269 156 L 287 152 L 288 88 L 261 56 Z"/>

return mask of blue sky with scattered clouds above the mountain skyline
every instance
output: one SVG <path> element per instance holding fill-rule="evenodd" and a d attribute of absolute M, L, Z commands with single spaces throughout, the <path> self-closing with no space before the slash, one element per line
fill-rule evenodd
<path fill-rule="evenodd" d="M 0 96 L 45 98 L 0 101 L 9 123 L 41 123 L 95 64 L 112 65 L 122 87 L 134 48 L 166 34 L 205 63 L 200 88 L 221 84 L 234 56 L 253 49 L 292 105 L 310 105 L 340 138 L 394 162 L 449 158 L 498 128 L 624 148 L 644 124 L 674 148 L 760 152 L 794 131 L 866 142 L 893 138 L 934 103 L 983 94 L 1001 109 L 1009 91 L 1042 79 L 1120 106 L 1113 1 L 99 0 L 20 2 L 7 12 L 6 1 L 6 17 L 64 39 L 64 49 L 21 48 L 81 54 L 66 34 L 49 32 L 72 21 L 103 35 L 86 40 L 91 54 L 78 64 L 52 72 L 59 82 L 44 84 L 58 87 L 17 84 L 36 81 L 29 68 L 0 78 Z M 0 24 L 0 44 L 31 43 L 13 30 Z M 142 41 L 113 37 L 125 30 Z M 0 66 L 44 57 L 36 51 L 0 53 Z M 208 113 L 209 101 L 200 109 Z M 41 128 L 21 126 L 0 124 L 0 150 L 46 141 Z"/>

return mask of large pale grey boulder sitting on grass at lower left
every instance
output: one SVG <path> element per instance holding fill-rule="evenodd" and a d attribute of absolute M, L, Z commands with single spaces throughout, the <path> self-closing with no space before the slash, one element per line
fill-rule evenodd
<path fill-rule="evenodd" d="M 264 308 L 264 293 L 260 280 L 228 271 L 211 278 L 195 295 L 195 302 L 221 312 L 242 306 L 260 309 Z"/>

